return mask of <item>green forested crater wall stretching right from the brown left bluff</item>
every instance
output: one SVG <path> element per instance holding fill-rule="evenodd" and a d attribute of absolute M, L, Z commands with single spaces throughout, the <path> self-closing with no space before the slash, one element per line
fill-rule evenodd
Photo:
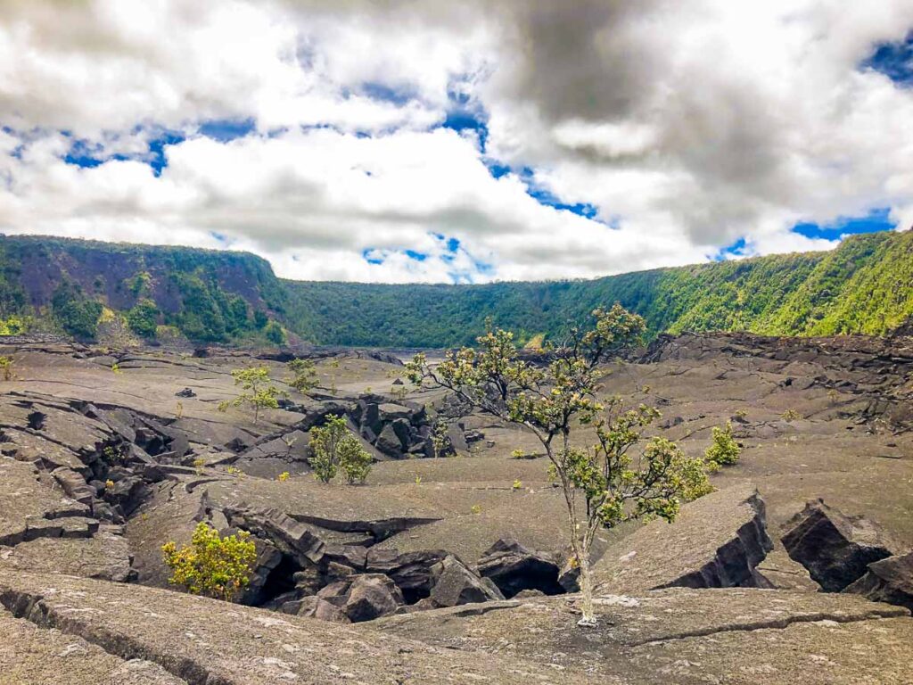
<path fill-rule="evenodd" d="M 593 280 L 480 286 L 285 281 L 289 328 L 314 342 L 445 347 L 490 316 L 521 339 L 560 334 L 606 303 L 652 335 L 885 333 L 913 316 L 913 232 L 848 237 L 830 252 L 652 269 Z"/>

